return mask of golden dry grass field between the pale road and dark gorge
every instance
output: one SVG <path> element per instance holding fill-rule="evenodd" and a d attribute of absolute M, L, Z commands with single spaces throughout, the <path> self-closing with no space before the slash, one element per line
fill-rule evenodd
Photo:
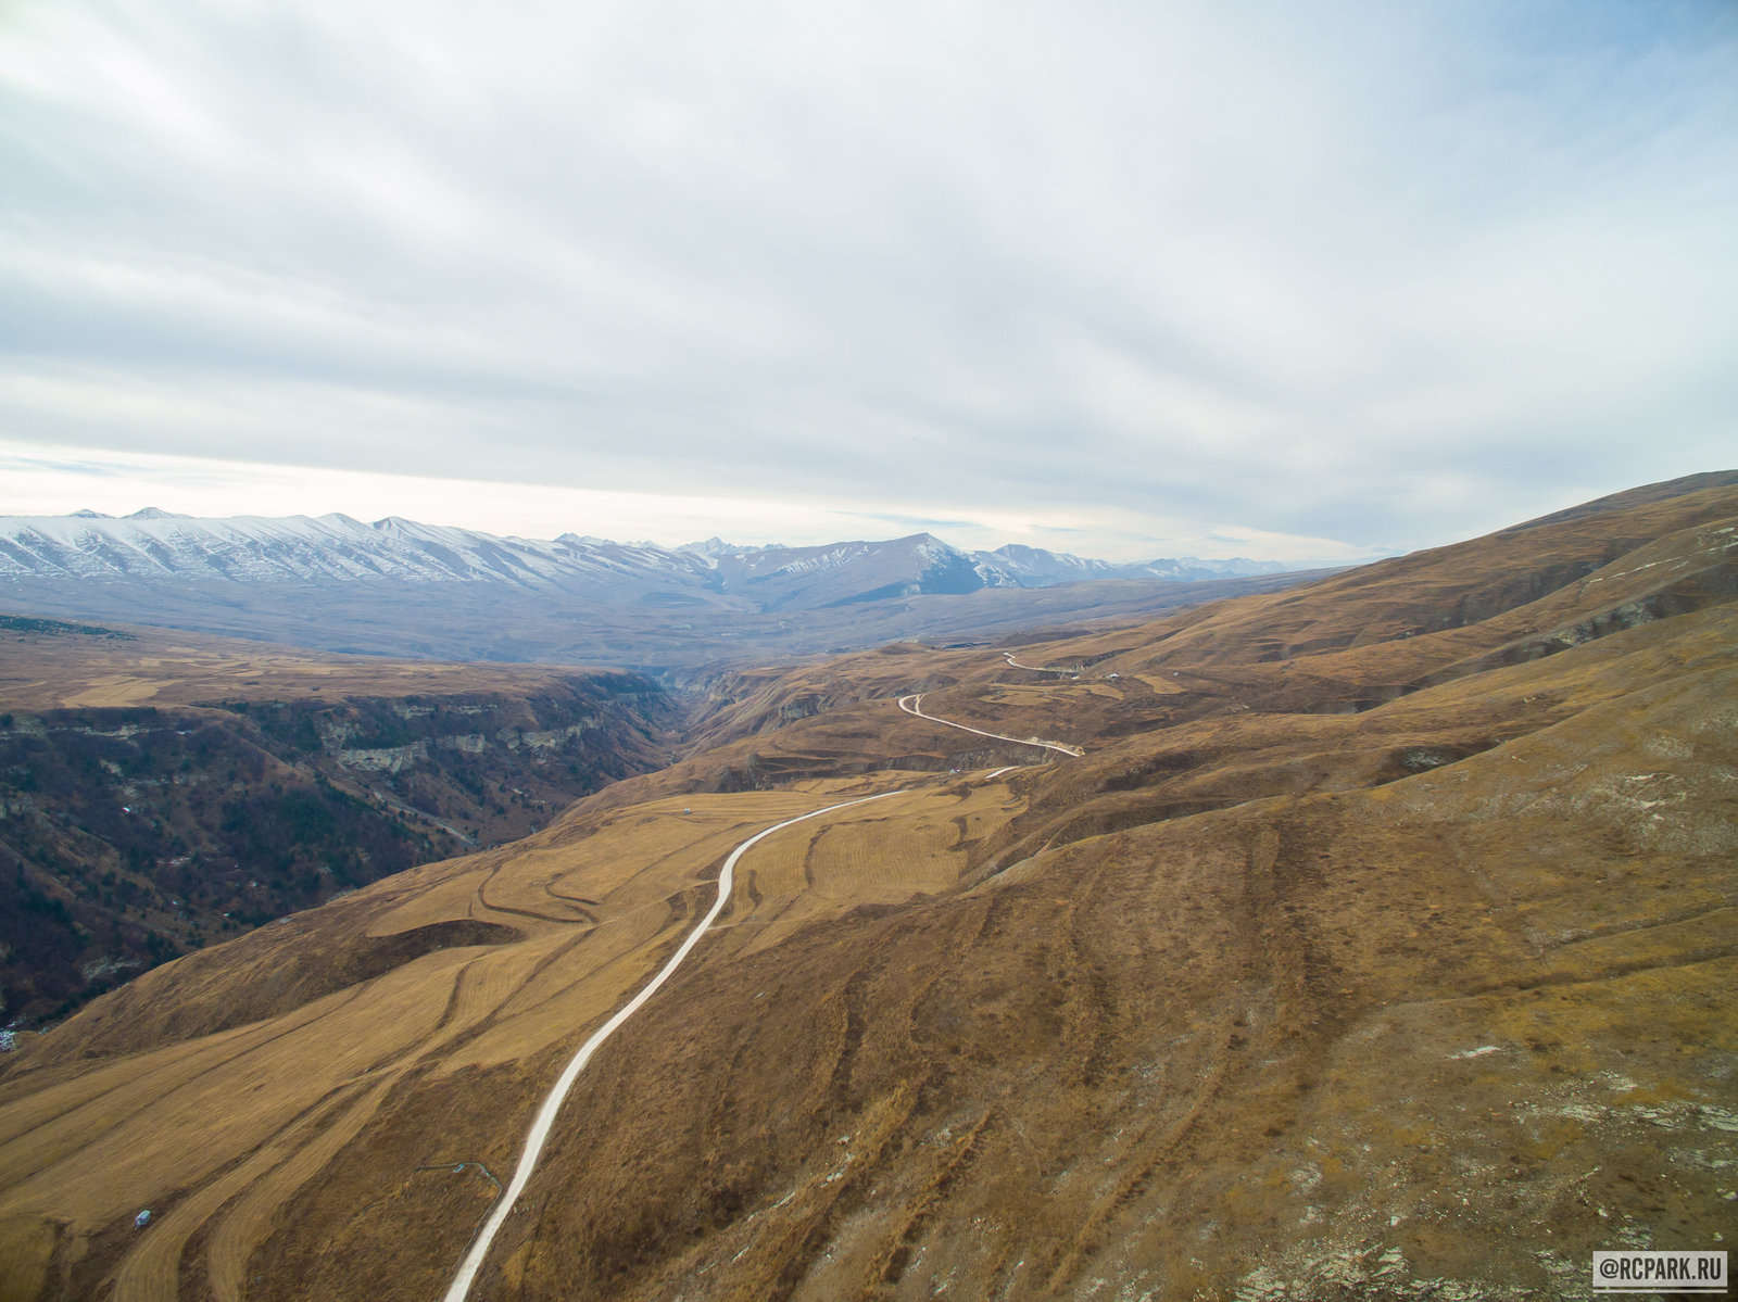
<path fill-rule="evenodd" d="M 653 801 L 631 814 L 568 820 L 502 852 L 415 869 L 273 930 L 290 947 L 301 940 L 302 949 L 337 949 L 351 937 L 396 937 L 469 918 L 511 925 L 523 939 L 438 949 L 289 1013 L 125 1053 L 96 1071 L 14 1073 L 0 1085 L 0 1224 L 17 1227 L 7 1269 L 35 1278 L 43 1245 L 54 1245 L 52 1226 L 76 1243 L 149 1206 L 156 1212 L 149 1232 L 137 1236 L 115 1274 L 116 1299 L 172 1297 L 195 1236 L 212 1295 L 243 1297 L 247 1257 L 282 1222 L 285 1203 L 395 1090 L 429 1066 L 436 1076 L 461 1078 L 504 1064 L 530 1064 L 535 1073 L 647 980 L 709 902 L 709 880 L 730 848 L 768 822 L 864 789 L 805 786 Z M 912 829 L 899 836 L 902 866 L 859 874 L 857 899 L 897 900 L 947 885 L 958 855 L 945 852 L 959 838 L 951 819 L 982 822 L 984 808 L 1005 796 L 998 787 L 992 796 L 900 798 L 914 814 Z M 801 824 L 787 834 L 789 847 L 770 841 L 744 866 L 777 864 L 791 847 L 799 862 L 808 838 L 826 838 L 833 826 Z M 852 819 L 841 843 L 871 827 Z M 812 913 L 848 907 L 846 864 L 827 855 L 820 862 L 826 902 Z M 798 867 L 787 904 L 803 893 Z M 739 902 L 735 913 L 742 909 Z M 758 947 L 766 944 L 775 937 L 756 937 Z M 269 982 L 280 963 L 264 958 L 252 982 Z M 177 967 L 149 973 L 125 994 L 136 1005 L 176 1001 L 177 980 L 198 979 Z M 103 1053 L 116 1036 L 125 1046 L 116 1022 L 127 1015 L 125 1006 L 87 1013 L 82 1052 Z M 502 1121 L 504 1151 L 513 1147 L 507 1132 L 518 1111 Z"/>

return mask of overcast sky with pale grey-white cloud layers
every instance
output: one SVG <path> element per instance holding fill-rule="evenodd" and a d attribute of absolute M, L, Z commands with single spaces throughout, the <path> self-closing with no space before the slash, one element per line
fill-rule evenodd
<path fill-rule="evenodd" d="M 7 0 L 0 511 L 1411 549 L 1738 464 L 1735 233 L 1731 0 Z"/>

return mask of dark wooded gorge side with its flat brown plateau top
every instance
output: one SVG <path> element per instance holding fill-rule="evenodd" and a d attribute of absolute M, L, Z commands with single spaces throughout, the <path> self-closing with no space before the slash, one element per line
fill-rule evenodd
<path fill-rule="evenodd" d="M 634 674 L 0 617 L 0 1020 L 535 831 L 657 768 L 671 716 Z"/>

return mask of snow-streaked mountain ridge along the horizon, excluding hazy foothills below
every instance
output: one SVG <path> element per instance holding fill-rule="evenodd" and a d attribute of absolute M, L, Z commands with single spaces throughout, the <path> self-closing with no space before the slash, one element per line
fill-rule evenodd
<path fill-rule="evenodd" d="M 111 518 L 0 518 L 0 579 L 226 581 L 323 584 L 365 579 L 492 582 L 584 595 L 617 605 L 822 610 L 897 596 L 965 595 L 984 588 L 1053 588 L 1091 579 L 1189 582 L 1279 574 L 1277 561 L 1142 565 L 1010 544 L 961 551 L 932 534 L 820 548 L 746 548 L 721 539 L 660 548 L 563 534 L 544 542 L 388 516 L 200 520 L 146 508 Z"/>

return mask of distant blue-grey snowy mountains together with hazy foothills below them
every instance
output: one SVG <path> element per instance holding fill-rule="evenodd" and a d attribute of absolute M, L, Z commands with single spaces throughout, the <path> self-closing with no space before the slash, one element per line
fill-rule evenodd
<path fill-rule="evenodd" d="M 0 605 L 21 614 L 441 659 L 693 666 L 977 638 L 1293 582 L 1232 577 L 1272 568 L 1111 565 L 1017 546 L 968 553 L 930 534 L 662 548 L 497 537 L 398 516 L 203 520 L 146 508 L 125 518 L 0 518 Z M 1196 593 L 1199 579 L 1213 582 Z"/>

